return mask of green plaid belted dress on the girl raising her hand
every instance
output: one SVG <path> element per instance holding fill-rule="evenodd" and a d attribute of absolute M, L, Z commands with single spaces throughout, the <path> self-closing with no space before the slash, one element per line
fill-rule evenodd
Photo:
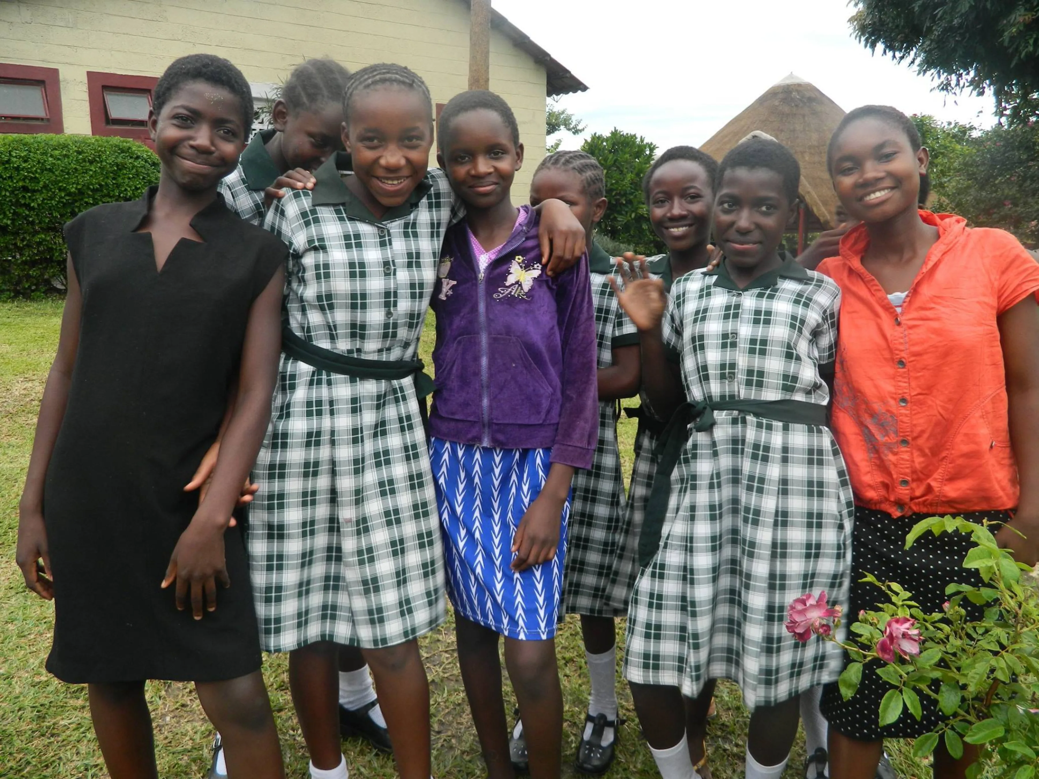
<path fill-rule="evenodd" d="M 769 419 L 781 415 L 774 407 L 721 409 L 825 406 L 820 375 L 835 356 L 840 298 L 793 260 L 743 289 L 724 264 L 674 283 L 665 344 L 689 400 L 714 404 L 714 424 L 709 408 L 689 426 L 660 546 L 635 584 L 629 680 L 694 696 L 708 679 L 729 678 L 753 709 L 840 675 L 838 646 L 800 644 L 783 621 L 806 592 L 848 605 L 853 506 L 841 452 L 824 425 Z"/>

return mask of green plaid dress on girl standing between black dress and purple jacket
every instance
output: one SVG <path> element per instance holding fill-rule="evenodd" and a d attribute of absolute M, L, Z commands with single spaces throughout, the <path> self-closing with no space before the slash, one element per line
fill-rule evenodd
<path fill-rule="evenodd" d="M 348 164 L 334 155 L 312 191 L 267 215 L 290 250 L 288 326 L 350 357 L 415 359 L 461 207 L 430 169 L 376 219 L 343 184 Z M 247 541 L 265 650 L 393 646 L 444 621 L 436 498 L 410 378 L 357 378 L 283 355 L 255 481 Z"/>

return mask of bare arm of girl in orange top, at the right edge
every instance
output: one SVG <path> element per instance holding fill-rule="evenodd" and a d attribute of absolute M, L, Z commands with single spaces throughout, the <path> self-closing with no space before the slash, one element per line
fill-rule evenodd
<path fill-rule="evenodd" d="M 1039 559 L 1039 305 L 1029 295 L 1000 316 L 1000 339 L 1007 370 L 1010 445 L 1021 484 L 1013 530 L 996 534 L 1022 563 Z"/>

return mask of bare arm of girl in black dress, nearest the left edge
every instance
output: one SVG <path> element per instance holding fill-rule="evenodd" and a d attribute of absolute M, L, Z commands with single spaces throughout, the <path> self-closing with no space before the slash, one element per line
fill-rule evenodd
<path fill-rule="evenodd" d="M 47 532 L 44 528 L 44 481 L 47 478 L 47 466 L 50 464 L 69 402 L 72 372 L 76 366 L 76 350 L 79 347 L 79 320 L 83 307 L 83 297 L 79 289 L 79 279 L 76 277 L 76 269 L 72 264 L 72 254 L 69 254 L 65 261 L 65 277 L 69 279 L 69 290 L 65 295 L 64 311 L 61 314 L 58 351 L 47 376 L 47 385 L 44 387 L 44 397 L 39 403 L 29 472 L 25 477 L 25 489 L 22 490 L 22 500 L 18 506 L 16 560 L 25 577 L 25 586 L 47 600 L 54 597 L 54 588 L 51 583 Z M 43 561 L 43 570 L 39 561 Z"/>

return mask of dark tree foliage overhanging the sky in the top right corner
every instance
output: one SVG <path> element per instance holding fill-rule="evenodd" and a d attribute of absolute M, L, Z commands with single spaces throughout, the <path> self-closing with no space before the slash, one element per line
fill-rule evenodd
<path fill-rule="evenodd" d="M 856 37 L 934 76 L 991 93 L 1013 124 L 1039 113 L 1039 0 L 853 0 Z"/>

